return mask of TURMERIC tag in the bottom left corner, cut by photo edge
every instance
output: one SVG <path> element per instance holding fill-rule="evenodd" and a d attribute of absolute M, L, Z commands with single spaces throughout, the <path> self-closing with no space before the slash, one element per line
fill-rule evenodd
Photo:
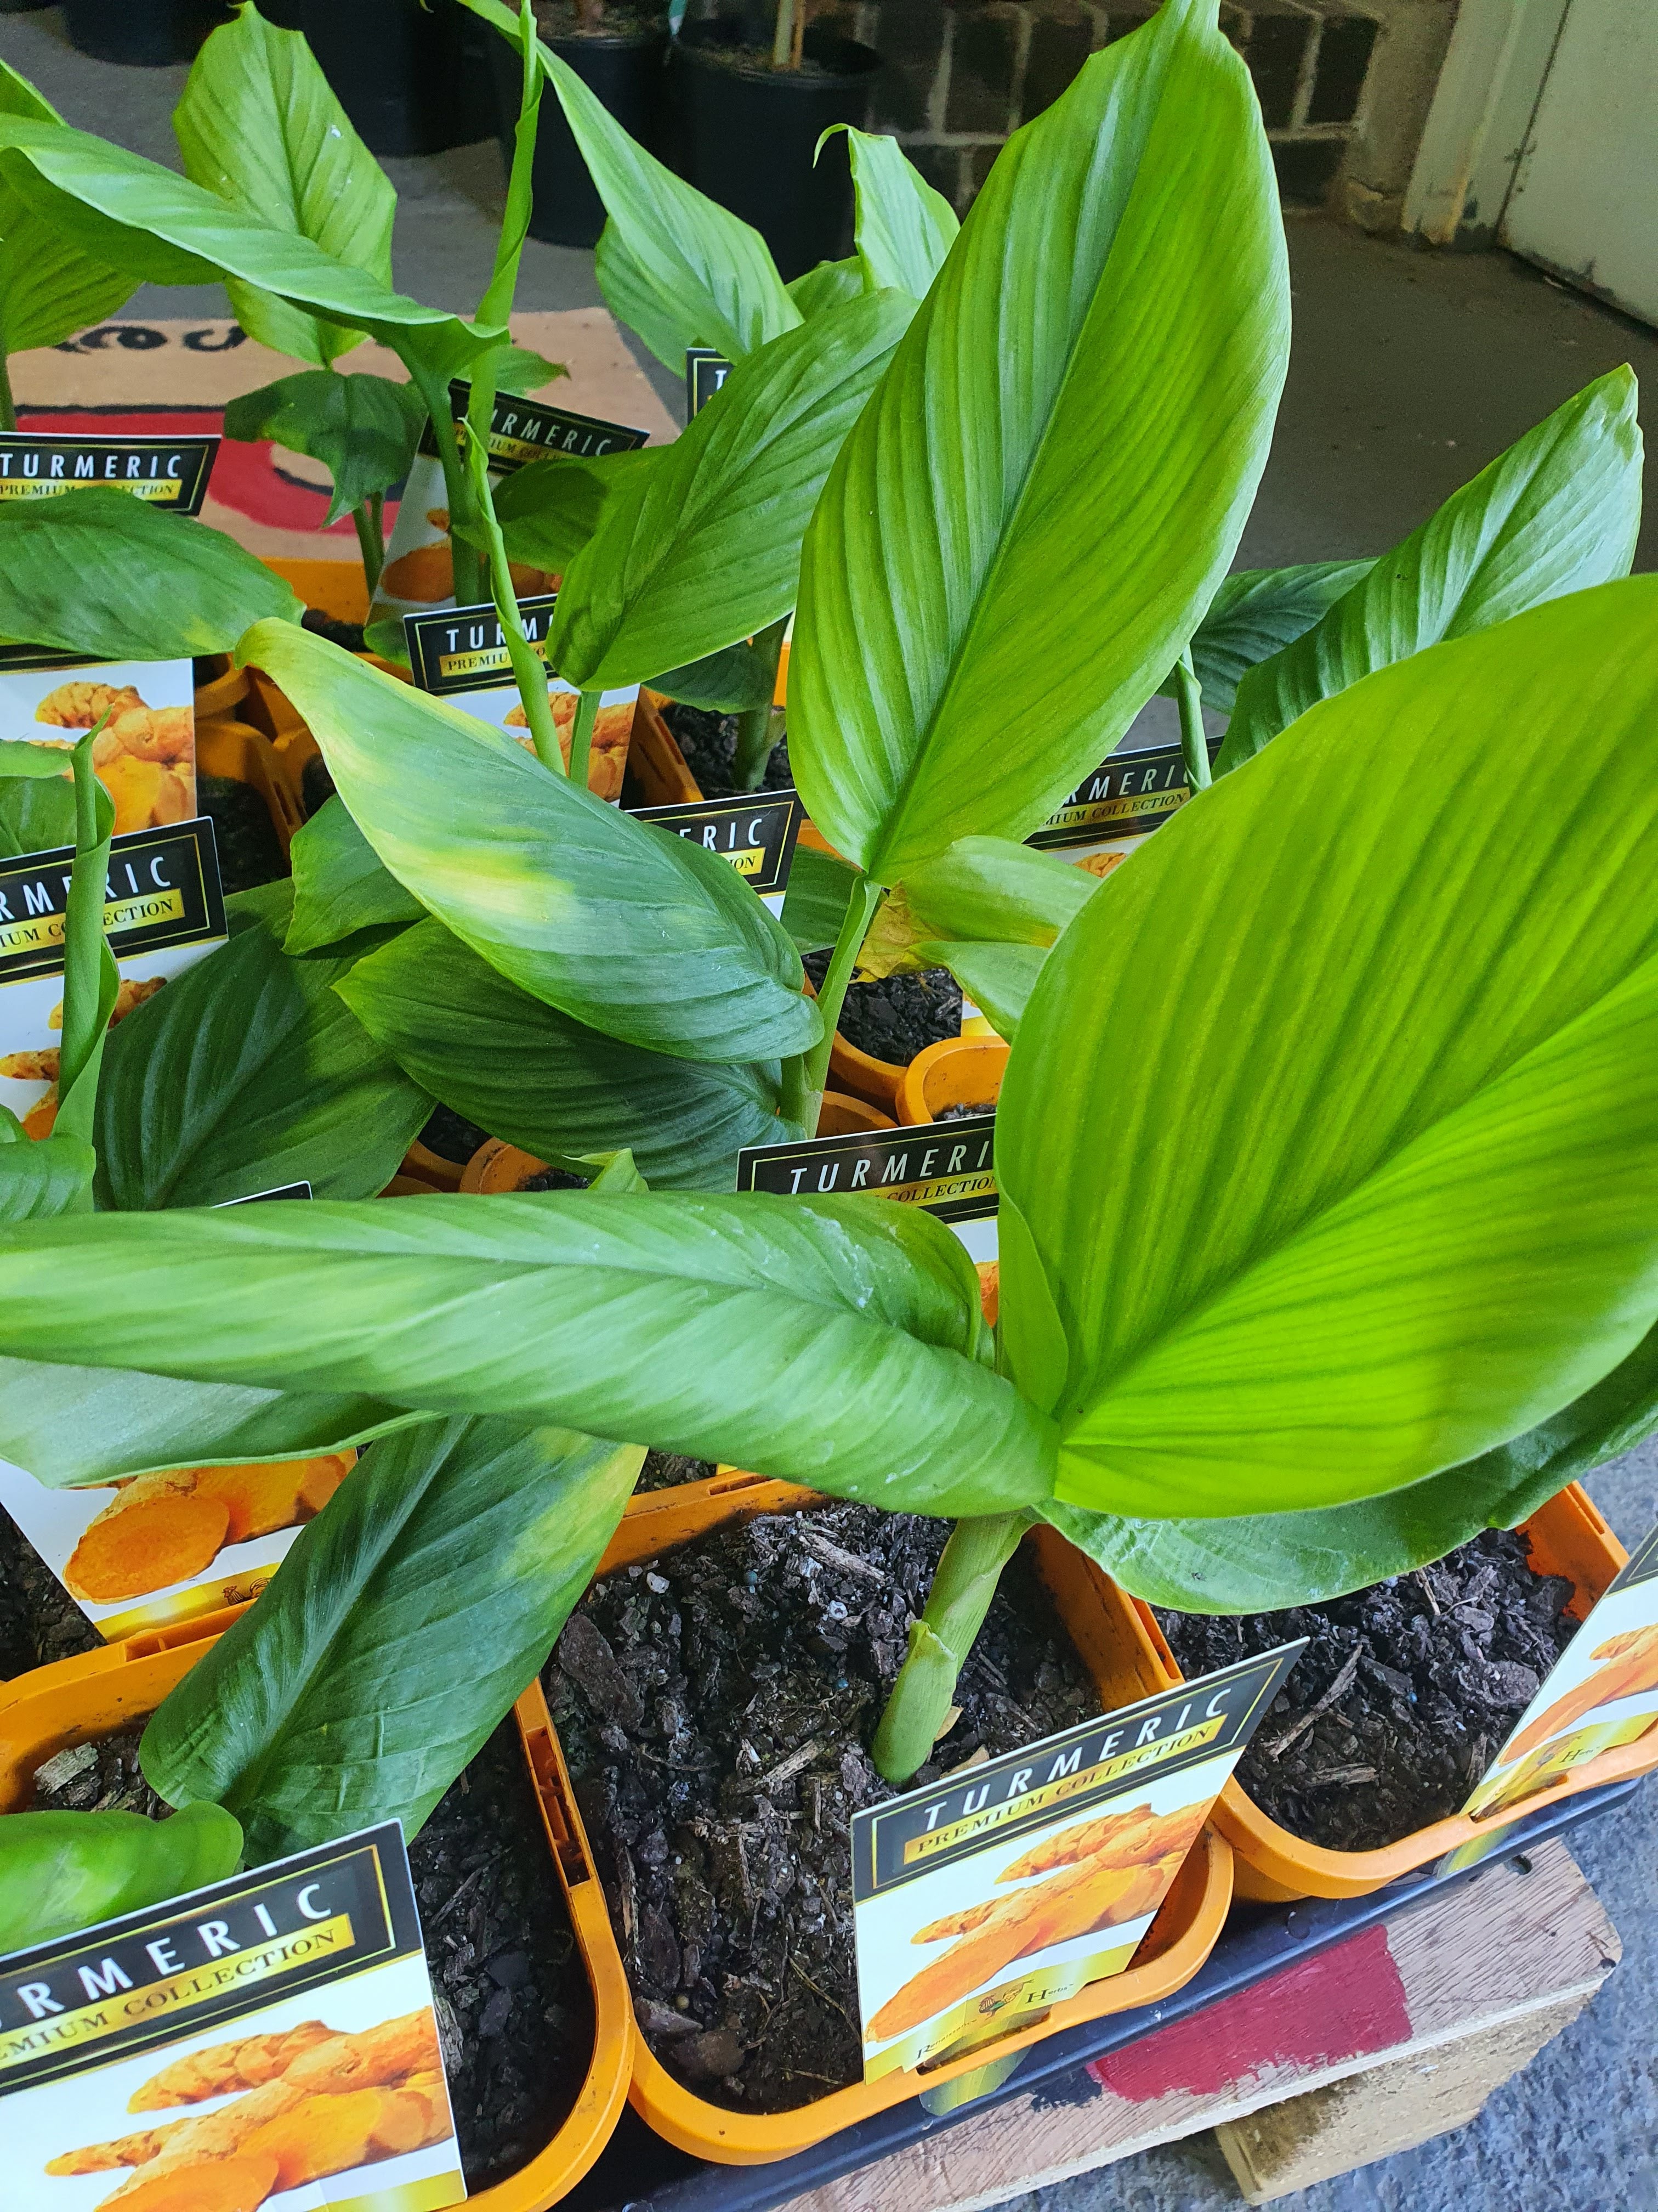
<path fill-rule="evenodd" d="M 15 1951 L 0 2099 L 15 2212 L 462 2203 L 400 1825 Z"/>

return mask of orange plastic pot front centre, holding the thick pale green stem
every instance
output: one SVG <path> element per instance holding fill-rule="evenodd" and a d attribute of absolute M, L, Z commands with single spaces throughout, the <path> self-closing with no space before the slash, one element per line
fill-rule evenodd
<path fill-rule="evenodd" d="M 707 1535 L 754 1513 L 800 1513 L 825 1500 L 816 1491 L 789 1482 L 767 1482 L 721 1469 L 712 1482 L 690 1482 L 672 1491 L 650 1491 L 634 1498 L 623 1513 L 599 1573 L 621 1566 L 643 1566 L 672 1544 Z M 1101 1571 L 1068 1544 L 1054 1528 L 1032 1528 L 1026 1537 L 1035 1568 L 1048 1586 L 1059 1617 L 1099 1683 L 1103 1710 L 1134 1703 L 1156 1681 L 1143 1677 L 1143 1652 L 1134 1637 L 1127 1599 Z M 1156 2004 L 1172 1995 L 1207 1960 L 1231 1905 L 1231 1849 L 1214 1829 L 1205 1829 L 1174 1880 L 1163 1907 L 1134 1953 L 1134 1964 L 1105 1982 L 1054 2004 L 1028 2026 L 997 2042 L 915 2073 L 891 2073 L 880 2081 L 853 2081 L 831 2090 L 794 2112 L 727 2112 L 676 2081 L 634 2031 L 634 2073 L 628 2097 L 641 2119 L 679 2150 L 718 2166 L 765 2166 L 851 2128 L 873 2112 L 904 2104 L 924 2088 L 937 2088 L 957 2075 L 973 2073 L 995 2059 L 1028 2051 L 1048 2035 L 1074 2028 L 1083 2020 L 1123 2013 L 1138 2004 Z"/>

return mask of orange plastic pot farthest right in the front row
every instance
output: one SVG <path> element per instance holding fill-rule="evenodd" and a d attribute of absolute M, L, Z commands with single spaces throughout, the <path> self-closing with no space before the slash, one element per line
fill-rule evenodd
<path fill-rule="evenodd" d="M 1578 1621 L 1629 1557 L 1576 1482 L 1567 1484 L 1521 1528 L 1530 1537 L 1536 1573 L 1565 1575 L 1574 1586 L 1565 1610 Z M 1180 1681 L 1180 1668 L 1152 1608 L 1138 1597 L 1127 1599 L 1127 1604 L 1141 1670 L 1154 1688 Z M 1552 1787 L 1503 1807 L 1501 1816 L 1468 1820 L 1463 1814 L 1452 1814 L 1448 1820 L 1433 1820 L 1377 1851 L 1329 1851 L 1324 1845 L 1302 1843 L 1300 1836 L 1291 1836 L 1287 1827 L 1271 1820 L 1236 1778 L 1220 1792 L 1214 1823 L 1238 1854 L 1240 1898 L 1276 1905 L 1293 1898 L 1364 1898 L 1386 1882 L 1397 1882 L 1402 1874 L 1415 1874 L 1417 1867 L 1430 1865 L 1446 1851 L 1483 1840 L 1508 1827 L 1510 1820 L 1559 1805 L 1561 1798 L 1576 1796 L 1581 1790 L 1598 1790 L 1603 1783 L 1647 1774 L 1651 1767 L 1658 1767 L 1658 1728 L 1634 1743 L 1620 1743 L 1598 1759 L 1589 1759 Z"/>

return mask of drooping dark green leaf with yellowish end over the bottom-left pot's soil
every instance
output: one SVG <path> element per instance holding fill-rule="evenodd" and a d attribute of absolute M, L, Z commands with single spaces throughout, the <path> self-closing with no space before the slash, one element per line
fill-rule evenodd
<path fill-rule="evenodd" d="M 150 1785 L 228 1805 L 254 1865 L 378 1820 L 413 1838 L 546 1663 L 641 1460 L 506 1420 L 376 1444 L 144 1730 Z"/>

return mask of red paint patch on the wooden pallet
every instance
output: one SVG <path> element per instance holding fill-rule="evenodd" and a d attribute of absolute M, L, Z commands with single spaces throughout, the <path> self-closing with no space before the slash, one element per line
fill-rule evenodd
<path fill-rule="evenodd" d="M 1408 2039 L 1404 1982 L 1377 1924 L 1092 2059 L 1088 2070 L 1114 2097 L 1147 2104 L 1169 2090 L 1214 2097 L 1267 2068 L 1331 2066 Z"/>

